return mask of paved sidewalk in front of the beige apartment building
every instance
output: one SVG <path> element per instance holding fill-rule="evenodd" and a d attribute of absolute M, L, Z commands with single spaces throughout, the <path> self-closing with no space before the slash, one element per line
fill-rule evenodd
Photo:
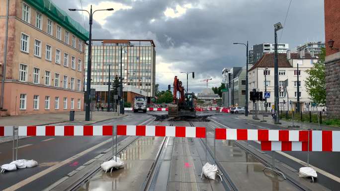
<path fill-rule="evenodd" d="M 80 123 L 92 124 L 95 122 L 100 122 L 103 120 L 120 118 L 124 115 L 117 116 L 116 113 L 112 112 L 92 112 L 92 120 L 85 121 L 85 112 L 75 112 L 75 121 L 81 125 Z M 49 124 L 57 124 L 63 122 L 70 122 L 70 113 L 50 113 L 50 114 L 32 114 L 32 115 L 22 115 L 22 116 L 8 116 L 0 118 L 0 126 L 37 126 L 37 125 L 49 125 Z"/>

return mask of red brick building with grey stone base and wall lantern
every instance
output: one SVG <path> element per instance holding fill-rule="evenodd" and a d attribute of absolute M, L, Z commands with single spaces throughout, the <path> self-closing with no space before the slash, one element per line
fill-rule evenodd
<path fill-rule="evenodd" d="M 340 119 L 340 0 L 325 0 L 324 2 L 326 106 L 330 117 Z"/>

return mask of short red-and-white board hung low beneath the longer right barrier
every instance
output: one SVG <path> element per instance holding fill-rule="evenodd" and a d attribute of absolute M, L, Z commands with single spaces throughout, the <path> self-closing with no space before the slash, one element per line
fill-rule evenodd
<path fill-rule="evenodd" d="M 308 142 L 299 141 L 261 141 L 263 151 L 307 151 Z"/>

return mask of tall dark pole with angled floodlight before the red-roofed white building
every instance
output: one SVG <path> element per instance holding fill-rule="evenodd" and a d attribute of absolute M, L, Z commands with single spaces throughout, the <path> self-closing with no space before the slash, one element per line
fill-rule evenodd
<path fill-rule="evenodd" d="M 283 29 L 280 22 L 274 24 L 274 36 L 275 36 L 275 46 L 274 46 L 274 109 L 275 109 L 275 124 L 279 124 L 278 117 L 278 55 L 277 55 L 277 35 L 276 31 Z"/>

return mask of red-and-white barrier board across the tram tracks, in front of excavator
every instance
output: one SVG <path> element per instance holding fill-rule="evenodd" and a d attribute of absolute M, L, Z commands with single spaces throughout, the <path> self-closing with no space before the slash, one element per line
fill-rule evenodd
<path fill-rule="evenodd" d="M 117 135 L 205 138 L 205 127 L 118 125 Z"/>

